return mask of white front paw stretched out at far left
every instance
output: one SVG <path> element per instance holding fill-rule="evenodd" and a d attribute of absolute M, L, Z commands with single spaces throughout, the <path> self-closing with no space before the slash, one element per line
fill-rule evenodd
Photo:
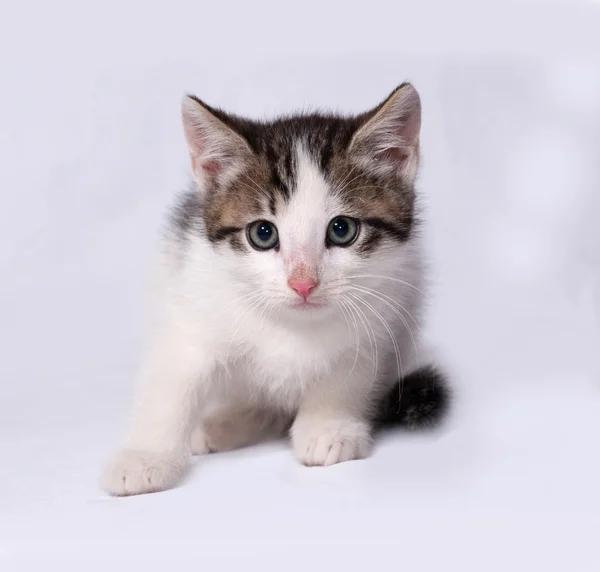
<path fill-rule="evenodd" d="M 101 485 L 114 496 L 164 491 L 177 484 L 186 464 L 182 455 L 125 449 L 111 459 Z"/>

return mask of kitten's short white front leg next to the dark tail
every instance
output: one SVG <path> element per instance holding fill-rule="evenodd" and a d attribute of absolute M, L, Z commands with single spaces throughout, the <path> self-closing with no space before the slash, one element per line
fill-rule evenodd
<path fill-rule="evenodd" d="M 358 371 L 350 377 L 347 371 L 338 371 L 308 391 L 291 430 L 300 462 L 333 465 L 369 454 L 373 428 L 368 379 Z"/>

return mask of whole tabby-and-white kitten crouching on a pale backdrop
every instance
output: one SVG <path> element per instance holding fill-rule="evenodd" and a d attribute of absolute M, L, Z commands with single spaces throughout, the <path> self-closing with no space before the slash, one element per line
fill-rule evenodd
<path fill-rule="evenodd" d="M 362 115 L 267 123 L 188 96 L 183 125 L 194 184 L 169 219 L 156 335 L 104 489 L 164 490 L 191 454 L 287 431 L 300 462 L 332 465 L 367 456 L 383 423 L 439 419 L 444 380 L 418 359 L 413 86 Z"/>

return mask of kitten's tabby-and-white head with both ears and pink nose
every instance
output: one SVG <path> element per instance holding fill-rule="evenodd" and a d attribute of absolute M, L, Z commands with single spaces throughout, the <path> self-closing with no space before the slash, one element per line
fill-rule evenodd
<path fill-rule="evenodd" d="M 397 266 L 411 237 L 420 99 L 402 84 L 354 117 L 268 123 L 183 101 L 206 238 L 232 278 L 297 315 L 351 299 Z"/>

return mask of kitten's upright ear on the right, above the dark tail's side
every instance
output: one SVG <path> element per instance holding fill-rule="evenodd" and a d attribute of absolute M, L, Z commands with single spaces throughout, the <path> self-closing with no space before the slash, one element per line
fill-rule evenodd
<path fill-rule="evenodd" d="M 403 83 L 359 127 L 349 151 L 367 169 L 396 174 L 412 183 L 419 163 L 421 99 Z"/>

